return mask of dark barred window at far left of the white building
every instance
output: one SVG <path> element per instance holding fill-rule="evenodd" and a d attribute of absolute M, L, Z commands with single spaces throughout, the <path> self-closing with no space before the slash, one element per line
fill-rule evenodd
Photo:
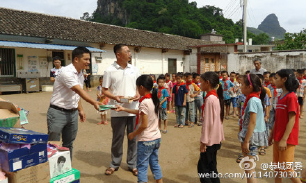
<path fill-rule="evenodd" d="M 15 49 L 0 49 L 0 76 L 15 76 Z"/>

